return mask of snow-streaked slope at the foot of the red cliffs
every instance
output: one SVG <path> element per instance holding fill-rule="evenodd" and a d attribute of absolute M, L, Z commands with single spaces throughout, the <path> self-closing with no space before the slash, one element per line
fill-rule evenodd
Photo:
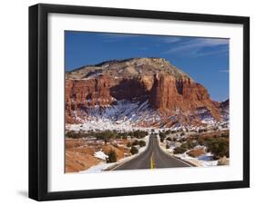
<path fill-rule="evenodd" d="M 98 99 L 98 101 L 105 101 Z M 114 104 L 108 106 L 98 106 L 87 108 L 87 111 L 73 112 L 74 117 L 80 124 L 67 124 L 67 130 L 73 131 L 97 131 L 97 130 L 117 130 L 117 131 L 131 131 L 131 130 L 145 130 L 151 129 L 152 124 L 158 124 L 158 127 L 171 130 L 189 130 L 198 131 L 203 128 L 210 128 L 229 122 L 217 122 L 214 120 L 210 111 L 205 108 L 200 108 L 195 112 L 182 113 L 179 109 L 172 116 L 165 116 L 150 108 L 148 101 L 139 102 L 128 100 L 117 100 L 112 98 Z M 89 101 L 89 100 L 88 100 Z M 189 118 L 191 122 L 200 120 L 202 125 L 192 125 L 183 121 L 183 118 Z M 228 119 L 228 118 L 224 118 Z M 169 128 L 167 122 L 172 126 Z M 162 123 L 162 124 L 161 124 Z M 227 123 L 229 125 L 229 123 Z"/>

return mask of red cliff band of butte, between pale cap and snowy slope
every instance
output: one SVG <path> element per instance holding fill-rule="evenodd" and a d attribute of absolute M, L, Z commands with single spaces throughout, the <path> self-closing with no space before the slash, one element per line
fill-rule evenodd
<path fill-rule="evenodd" d="M 154 61 L 149 63 L 151 67 L 148 70 L 151 72 Z M 161 63 L 160 60 L 158 66 L 160 66 L 159 63 Z M 117 62 L 113 66 L 118 67 Z M 111 73 L 118 70 L 116 67 L 111 68 Z M 204 108 L 216 120 L 220 120 L 220 104 L 210 100 L 210 94 L 206 88 L 200 83 L 195 83 L 188 75 L 182 74 L 176 68 L 170 68 L 174 69 L 174 73 L 178 73 L 179 76 L 158 70 L 154 74 L 151 72 L 149 75 L 137 74 L 129 77 L 127 73 L 126 76 L 121 77 L 119 72 L 117 72 L 118 77 L 108 73 L 78 80 L 67 77 L 67 123 L 78 122 L 77 117 L 86 118 L 88 108 L 96 106 L 104 108 L 115 104 L 116 100 L 140 102 L 148 100 L 150 107 L 162 116 L 171 116 L 176 112 L 190 114 L 199 108 Z M 137 67 L 132 67 L 128 70 L 136 73 L 136 69 Z M 189 122 L 189 118 L 184 117 L 182 121 Z M 166 123 L 171 122 L 167 120 Z"/>

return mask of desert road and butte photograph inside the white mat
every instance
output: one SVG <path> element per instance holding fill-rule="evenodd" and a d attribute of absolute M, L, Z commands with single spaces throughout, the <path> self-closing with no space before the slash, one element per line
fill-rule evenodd
<path fill-rule="evenodd" d="M 230 39 L 65 31 L 65 172 L 230 164 Z"/>

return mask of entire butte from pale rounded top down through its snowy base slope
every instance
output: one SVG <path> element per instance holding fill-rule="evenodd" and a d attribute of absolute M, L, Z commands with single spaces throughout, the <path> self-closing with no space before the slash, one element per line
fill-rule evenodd
<path fill-rule="evenodd" d="M 67 123 L 108 120 L 173 127 L 220 121 L 219 102 L 162 58 L 132 58 L 66 73 Z"/>

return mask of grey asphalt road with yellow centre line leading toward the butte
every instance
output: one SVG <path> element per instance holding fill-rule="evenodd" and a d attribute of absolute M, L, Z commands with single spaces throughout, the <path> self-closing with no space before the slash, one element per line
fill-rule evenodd
<path fill-rule="evenodd" d="M 156 168 L 173 168 L 173 167 L 189 167 L 189 164 L 179 161 L 169 156 L 159 147 L 159 140 L 156 136 L 150 136 L 148 148 L 146 151 L 138 154 L 130 161 L 124 162 L 112 171 L 122 170 L 138 170 L 138 169 L 156 169 Z"/>

